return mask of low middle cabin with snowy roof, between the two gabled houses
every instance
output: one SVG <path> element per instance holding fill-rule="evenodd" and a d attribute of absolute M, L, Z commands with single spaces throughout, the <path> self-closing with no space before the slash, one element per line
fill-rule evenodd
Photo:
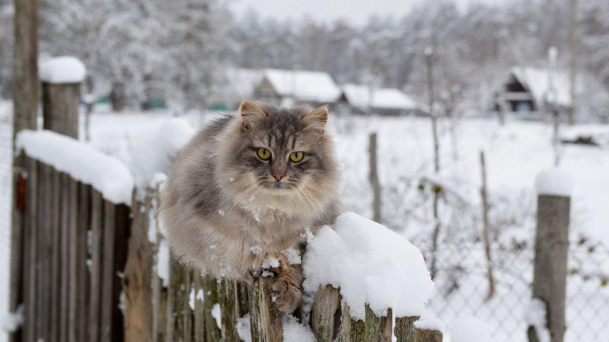
<path fill-rule="evenodd" d="M 354 114 L 427 115 L 428 108 L 397 88 L 371 88 L 345 84 L 340 87 L 340 103 Z"/>

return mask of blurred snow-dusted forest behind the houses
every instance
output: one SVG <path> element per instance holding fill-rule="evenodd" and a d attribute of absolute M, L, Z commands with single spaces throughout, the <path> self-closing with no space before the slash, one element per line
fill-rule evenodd
<path fill-rule="evenodd" d="M 94 9 L 94 10 L 93 10 Z M 263 10 L 261 9 L 261 12 Z M 338 83 L 402 88 L 425 99 L 424 49 L 432 47 L 438 99 L 446 116 L 485 110 L 489 89 L 507 68 L 545 68 L 549 47 L 558 69 L 568 70 L 571 2 L 515 0 L 418 5 L 403 18 L 371 17 L 363 26 L 269 19 L 256 12 L 237 17 L 224 2 L 41 1 L 40 51 L 74 55 L 88 66 L 87 86 L 107 94 L 123 85 L 132 106 L 163 97 L 202 108 L 229 67 L 328 72 Z M 606 1 L 577 6 L 577 71 L 590 85 L 579 99 L 579 120 L 607 120 L 609 27 Z M 0 2 L 2 95 L 10 95 L 12 2 Z M 198 86 L 192 86 L 198 85 Z"/>

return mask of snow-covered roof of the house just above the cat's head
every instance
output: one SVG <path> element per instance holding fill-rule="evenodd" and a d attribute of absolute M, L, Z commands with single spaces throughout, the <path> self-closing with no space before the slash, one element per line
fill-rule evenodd
<path fill-rule="evenodd" d="M 264 80 L 279 96 L 299 101 L 335 102 L 340 97 L 339 87 L 326 72 L 265 69 Z"/>

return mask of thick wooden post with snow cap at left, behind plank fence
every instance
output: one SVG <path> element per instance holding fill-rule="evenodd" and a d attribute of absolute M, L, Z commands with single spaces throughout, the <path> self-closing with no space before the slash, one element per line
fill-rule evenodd
<path fill-rule="evenodd" d="M 76 57 L 40 63 L 44 129 L 78 139 L 80 83 L 85 74 L 85 65 Z"/>

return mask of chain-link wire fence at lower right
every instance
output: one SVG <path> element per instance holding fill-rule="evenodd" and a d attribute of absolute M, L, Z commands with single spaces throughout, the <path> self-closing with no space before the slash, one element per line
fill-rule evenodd
<path fill-rule="evenodd" d="M 493 245 L 495 293 L 488 298 L 488 263 L 480 244 L 438 248 L 440 265 L 432 311 L 450 327 L 459 317 L 488 324 L 498 342 L 526 342 L 527 310 L 532 296 L 531 246 Z M 424 253 L 429 256 L 429 253 Z M 580 241 L 569 246 L 565 342 L 609 338 L 609 249 Z"/>

